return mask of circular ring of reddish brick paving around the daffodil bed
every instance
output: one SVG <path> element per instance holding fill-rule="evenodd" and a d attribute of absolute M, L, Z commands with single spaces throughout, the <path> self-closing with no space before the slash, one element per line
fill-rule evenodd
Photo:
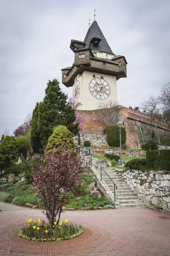
<path fill-rule="evenodd" d="M 20 227 L 8 227 L 0 234 L 0 248 L 10 252 L 29 254 L 62 254 L 85 251 L 109 239 L 108 231 L 96 227 L 83 227 L 84 233 L 77 238 L 64 241 L 28 241 L 18 236 Z"/>

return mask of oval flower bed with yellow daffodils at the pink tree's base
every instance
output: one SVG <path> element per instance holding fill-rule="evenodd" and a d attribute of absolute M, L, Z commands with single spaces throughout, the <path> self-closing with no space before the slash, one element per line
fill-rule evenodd
<path fill-rule="evenodd" d="M 28 226 L 24 227 L 23 225 L 18 236 L 31 241 L 62 241 L 73 239 L 83 233 L 82 226 L 69 223 L 68 218 L 64 222 L 59 221 L 59 224 L 55 221 L 53 226 L 43 220 L 41 221 L 40 218 L 37 222 L 31 219 L 26 221 Z"/>

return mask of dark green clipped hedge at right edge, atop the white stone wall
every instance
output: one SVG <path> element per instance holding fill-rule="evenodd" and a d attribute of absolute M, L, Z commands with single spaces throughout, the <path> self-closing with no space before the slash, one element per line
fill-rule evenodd
<path fill-rule="evenodd" d="M 146 152 L 147 165 L 156 171 L 170 171 L 170 149 Z"/>

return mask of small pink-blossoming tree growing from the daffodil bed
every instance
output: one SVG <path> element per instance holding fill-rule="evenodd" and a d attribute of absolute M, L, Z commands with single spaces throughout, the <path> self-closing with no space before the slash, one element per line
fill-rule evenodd
<path fill-rule="evenodd" d="M 78 171 L 82 166 L 82 159 L 75 157 L 75 151 L 62 149 L 62 154 L 54 150 L 38 156 L 35 171 L 32 171 L 33 186 L 37 196 L 42 199 L 45 209 L 42 212 L 47 216 L 51 225 L 54 225 L 57 215 L 59 218 L 66 195 L 79 182 Z"/>

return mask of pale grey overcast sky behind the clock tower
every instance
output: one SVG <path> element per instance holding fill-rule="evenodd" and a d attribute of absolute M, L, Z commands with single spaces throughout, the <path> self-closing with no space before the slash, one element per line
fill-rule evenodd
<path fill-rule="evenodd" d="M 170 81 L 169 0 L 0 0 L 0 134 L 11 134 L 42 101 L 48 80 L 71 66 L 71 39 L 83 41 L 96 21 L 127 78 L 117 81 L 119 104 L 139 106 Z"/>

